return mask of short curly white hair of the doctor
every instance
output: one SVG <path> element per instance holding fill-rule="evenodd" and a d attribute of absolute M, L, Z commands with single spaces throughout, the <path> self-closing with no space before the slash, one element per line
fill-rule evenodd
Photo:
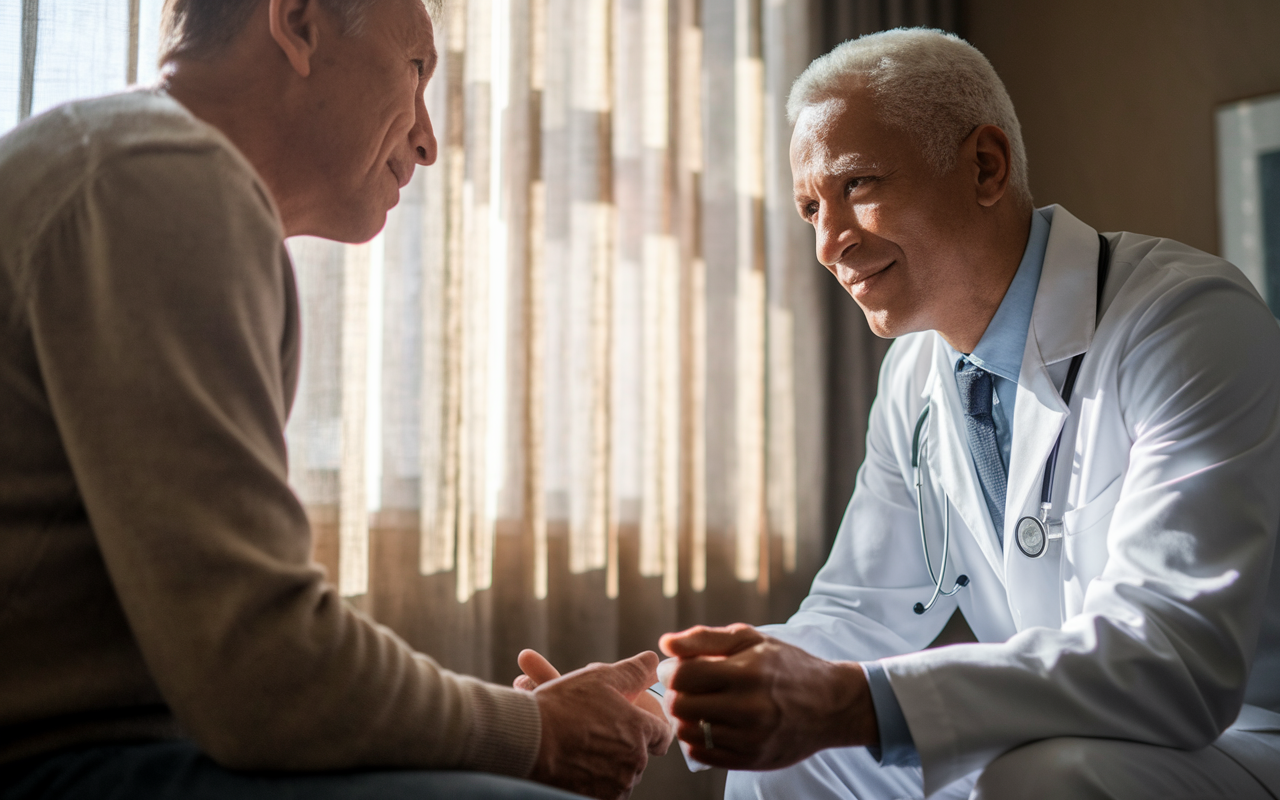
<path fill-rule="evenodd" d="M 978 125 L 1009 137 L 1009 186 L 1030 205 L 1027 150 L 1014 102 L 991 61 L 954 33 L 928 28 L 881 31 L 847 41 L 814 59 L 787 96 L 787 119 L 845 97 L 865 84 L 881 120 L 905 131 L 940 174 L 955 166 L 960 142 Z"/>

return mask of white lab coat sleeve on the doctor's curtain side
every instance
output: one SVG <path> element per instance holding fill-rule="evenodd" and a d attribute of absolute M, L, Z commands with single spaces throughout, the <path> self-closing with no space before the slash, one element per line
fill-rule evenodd
<path fill-rule="evenodd" d="M 956 607 L 955 598 L 940 598 L 923 617 L 911 611 L 933 591 L 909 485 L 910 434 L 929 365 L 916 351 L 925 342 L 909 337 L 890 348 L 879 385 L 892 387 L 893 397 L 882 392 L 872 406 L 867 458 L 831 556 L 800 609 L 785 625 L 762 628 L 820 658 L 864 662 L 919 650 Z"/>

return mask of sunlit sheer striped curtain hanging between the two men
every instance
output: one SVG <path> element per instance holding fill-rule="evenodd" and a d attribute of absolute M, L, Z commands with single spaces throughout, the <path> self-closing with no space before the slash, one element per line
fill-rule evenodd
<path fill-rule="evenodd" d="M 815 8 L 449 0 L 439 161 L 371 243 L 291 243 L 317 552 L 445 664 L 576 667 L 806 589 L 824 317 L 781 106 Z"/>

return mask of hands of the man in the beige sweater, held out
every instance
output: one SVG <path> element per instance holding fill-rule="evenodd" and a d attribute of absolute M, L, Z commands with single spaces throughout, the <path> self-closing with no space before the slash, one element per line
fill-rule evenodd
<path fill-rule="evenodd" d="M 657 716 L 632 705 L 657 681 L 654 653 L 561 676 L 545 658 L 525 650 L 520 667 L 525 675 L 516 687 L 534 692 L 543 716 L 532 780 L 602 800 L 626 797 L 649 754 L 662 755 L 671 745 L 671 727 L 657 703 Z"/>

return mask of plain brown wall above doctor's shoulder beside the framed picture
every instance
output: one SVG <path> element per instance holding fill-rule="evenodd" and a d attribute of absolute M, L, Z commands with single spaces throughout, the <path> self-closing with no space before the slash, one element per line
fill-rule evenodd
<path fill-rule="evenodd" d="M 968 0 L 1037 205 L 1219 252 L 1213 110 L 1280 92 L 1280 0 Z"/>

